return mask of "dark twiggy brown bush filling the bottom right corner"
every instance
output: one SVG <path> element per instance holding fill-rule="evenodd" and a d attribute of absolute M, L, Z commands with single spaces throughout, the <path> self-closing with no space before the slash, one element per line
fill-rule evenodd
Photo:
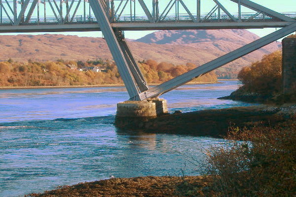
<path fill-rule="evenodd" d="M 207 152 L 211 190 L 219 197 L 294 196 L 295 132 L 295 120 L 276 128 L 232 128 L 228 138 L 242 142 L 212 147 Z"/>

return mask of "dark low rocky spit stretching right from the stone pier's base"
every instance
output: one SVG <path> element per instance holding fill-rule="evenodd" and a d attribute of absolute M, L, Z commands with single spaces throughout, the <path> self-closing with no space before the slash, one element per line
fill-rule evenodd
<path fill-rule="evenodd" d="M 222 137 L 227 133 L 229 126 L 272 125 L 295 114 L 295 104 L 256 105 L 175 113 L 157 118 L 119 118 L 116 119 L 115 125 L 121 129 L 144 130 L 150 133 Z"/>

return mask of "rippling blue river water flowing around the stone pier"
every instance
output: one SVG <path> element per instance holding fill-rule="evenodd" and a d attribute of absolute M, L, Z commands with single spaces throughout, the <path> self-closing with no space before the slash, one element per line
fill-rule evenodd
<path fill-rule="evenodd" d="M 237 81 L 183 85 L 161 96 L 171 112 L 249 104 L 218 100 Z M 190 157 L 222 139 L 119 130 L 124 87 L 0 90 L 0 197 L 114 177 L 198 175 Z"/>

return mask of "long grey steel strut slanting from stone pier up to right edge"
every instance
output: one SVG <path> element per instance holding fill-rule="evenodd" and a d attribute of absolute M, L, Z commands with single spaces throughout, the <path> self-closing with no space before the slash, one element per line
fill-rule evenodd
<path fill-rule="evenodd" d="M 245 46 L 242 46 L 230 53 L 227 53 L 213 61 L 210 61 L 202 66 L 199 66 L 183 75 L 180 75 L 174 79 L 171 79 L 167 82 L 164 82 L 160 85 L 150 88 L 149 90 L 140 93 L 140 100 L 145 100 L 151 97 L 157 97 L 161 94 L 164 94 L 172 89 L 175 89 L 192 79 L 195 79 L 199 76 L 202 76 L 206 73 L 209 73 L 223 65 L 232 62 L 246 54 L 249 54 L 275 40 L 281 39 L 289 34 L 292 34 L 296 31 L 296 22 L 290 23 L 289 26 L 284 27 L 274 33 L 271 33 L 263 38 L 255 40 Z"/>

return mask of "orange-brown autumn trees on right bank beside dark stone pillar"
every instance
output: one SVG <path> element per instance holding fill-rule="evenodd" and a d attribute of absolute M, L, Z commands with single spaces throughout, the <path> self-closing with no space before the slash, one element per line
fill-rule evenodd
<path fill-rule="evenodd" d="M 238 79 L 242 86 L 222 99 L 273 103 L 296 101 L 296 88 L 294 92 L 282 94 L 282 51 L 266 55 L 261 61 L 244 67 Z"/>

